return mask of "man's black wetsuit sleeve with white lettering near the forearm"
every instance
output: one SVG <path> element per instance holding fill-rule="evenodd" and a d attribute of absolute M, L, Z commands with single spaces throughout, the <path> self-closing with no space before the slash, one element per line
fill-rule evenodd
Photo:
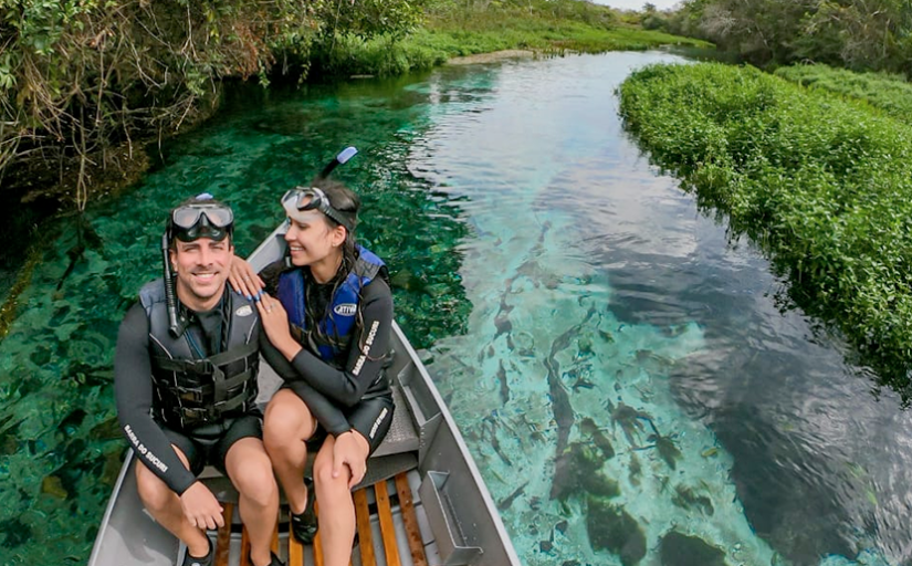
<path fill-rule="evenodd" d="M 196 482 L 196 476 L 185 468 L 165 432 L 151 418 L 149 319 L 138 303 L 127 312 L 117 334 L 114 395 L 120 429 L 139 462 L 175 493 L 182 494 Z"/>

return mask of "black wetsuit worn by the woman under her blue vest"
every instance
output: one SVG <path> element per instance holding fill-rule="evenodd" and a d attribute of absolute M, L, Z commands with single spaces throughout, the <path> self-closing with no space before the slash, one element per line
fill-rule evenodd
<path fill-rule="evenodd" d="M 277 296 L 279 274 L 283 269 L 284 263 L 276 262 L 260 273 L 272 296 Z M 304 272 L 306 284 L 313 285 L 314 311 L 324 312 L 332 298 L 333 284 L 321 285 L 310 276 L 307 269 Z M 287 305 L 285 310 L 289 310 Z M 361 290 L 358 310 L 360 317 L 352 333 L 347 360 L 342 368 L 324 361 L 307 346 L 289 363 L 269 342 L 265 332 L 261 334 L 260 348 L 263 359 L 285 381 L 284 387 L 301 397 L 326 432 L 335 437 L 355 429 L 367 439 L 370 452 L 374 452 L 389 430 L 394 410 L 392 392 L 384 369 L 392 329 L 392 293 L 382 279 L 376 277 Z M 308 319 L 307 327 L 314 327 L 314 322 Z M 365 332 L 370 328 L 375 336 L 365 353 Z"/>

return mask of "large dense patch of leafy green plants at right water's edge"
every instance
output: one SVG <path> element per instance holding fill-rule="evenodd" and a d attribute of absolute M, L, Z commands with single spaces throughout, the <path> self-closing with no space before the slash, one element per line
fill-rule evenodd
<path fill-rule="evenodd" d="M 912 129 L 753 67 L 656 65 L 619 91 L 653 161 L 757 242 L 793 301 L 909 402 Z"/>

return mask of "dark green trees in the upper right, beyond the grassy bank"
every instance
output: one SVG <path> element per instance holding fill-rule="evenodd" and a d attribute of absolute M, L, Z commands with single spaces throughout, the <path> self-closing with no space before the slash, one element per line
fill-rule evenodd
<path fill-rule="evenodd" d="M 683 0 L 674 12 L 647 4 L 642 24 L 761 66 L 813 62 L 912 76 L 909 0 Z"/>

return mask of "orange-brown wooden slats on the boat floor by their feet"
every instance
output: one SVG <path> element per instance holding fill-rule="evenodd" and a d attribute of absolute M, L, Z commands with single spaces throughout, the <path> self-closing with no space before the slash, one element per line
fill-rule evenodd
<path fill-rule="evenodd" d="M 357 489 L 353 493 L 358 541 L 353 566 L 428 566 L 437 545 L 415 493 L 421 480 L 417 470 Z M 226 526 L 214 533 L 216 566 L 252 566 L 250 541 L 234 502 L 223 503 Z M 319 516 L 319 502 L 315 506 Z M 211 534 L 210 534 L 211 536 Z M 287 507 L 282 509 L 273 533 L 273 552 L 289 566 L 323 566 L 319 532 L 313 545 L 301 545 L 289 532 Z"/>

